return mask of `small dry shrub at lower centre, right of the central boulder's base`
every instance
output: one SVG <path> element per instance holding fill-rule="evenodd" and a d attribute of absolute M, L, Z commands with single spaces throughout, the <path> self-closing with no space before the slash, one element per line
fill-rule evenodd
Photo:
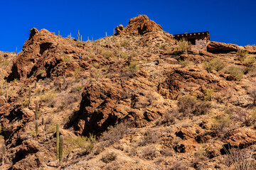
<path fill-rule="evenodd" d="M 142 137 L 142 140 L 139 142 L 139 146 L 145 146 L 149 143 L 156 143 L 160 140 L 160 134 L 157 130 L 146 130 L 144 132 L 144 136 Z"/>

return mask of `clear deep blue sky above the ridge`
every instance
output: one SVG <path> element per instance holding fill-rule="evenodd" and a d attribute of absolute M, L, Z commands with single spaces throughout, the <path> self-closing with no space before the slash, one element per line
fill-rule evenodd
<path fill-rule="evenodd" d="M 210 40 L 256 44 L 255 0 L 193 1 L 78 1 L 78 0 L 1 0 L 0 51 L 20 51 L 29 29 L 46 28 L 67 37 L 78 30 L 87 36 L 102 38 L 113 28 L 127 26 L 130 18 L 146 14 L 171 34 L 210 31 Z"/>

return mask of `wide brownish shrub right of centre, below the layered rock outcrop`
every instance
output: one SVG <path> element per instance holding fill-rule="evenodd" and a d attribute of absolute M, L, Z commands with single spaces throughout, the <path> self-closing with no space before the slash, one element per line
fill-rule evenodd
<path fill-rule="evenodd" d="M 195 96 L 183 96 L 178 99 L 178 112 L 186 115 L 205 115 L 210 111 L 208 101 L 198 101 Z"/>

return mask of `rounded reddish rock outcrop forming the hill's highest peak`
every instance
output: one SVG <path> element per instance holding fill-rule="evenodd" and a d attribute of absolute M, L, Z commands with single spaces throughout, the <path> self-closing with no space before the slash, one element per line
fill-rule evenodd
<path fill-rule="evenodd" d="M 161 26 L 151 21 L 146 15 L 139 15 L 130 19 L 127 27 L 124 28 L 122 25 L 117 26 L 116 35 L 144 35 L 145 33 L 162 30 Z"/>

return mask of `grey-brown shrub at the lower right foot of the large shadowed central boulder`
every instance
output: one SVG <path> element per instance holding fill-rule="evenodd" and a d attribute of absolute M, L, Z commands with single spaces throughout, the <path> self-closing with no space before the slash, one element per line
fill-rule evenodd
<path fill-rule="evenodd" d="M 129 122 L 123 122 L 115 125 L 114 127 L 110 126 L 109 128 L 107 128 L 107 131 L 102 133 L 99 141 L 107 141 L 105 143 L 105 145 L 107 146 L 114 144 L 114 142 L 119 142 L 124 134 L 129 132 L 129 124 Z"/>

